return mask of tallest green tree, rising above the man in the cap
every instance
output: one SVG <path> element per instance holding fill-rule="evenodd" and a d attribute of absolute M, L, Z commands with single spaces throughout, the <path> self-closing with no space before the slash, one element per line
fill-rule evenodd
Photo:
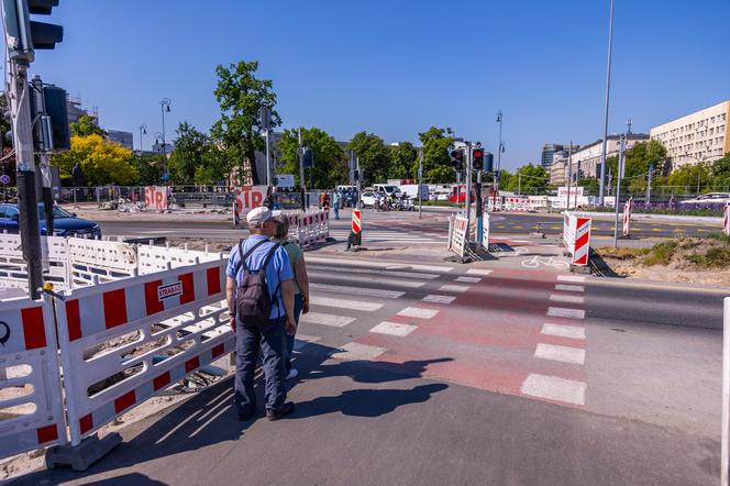
<path fill-rule="evenodd" d="M 259 183 L 255 168 L 256 151 L 265 150 L 264 140 L 259 132 L 262 121 L 259 110 L 272 109 L 273 124 L 281 124 L 279 114 L 274 110 L 276 95 L 270 79 L 256 78 L 257 62 L 241 60 L 229 67 L 218 66 L 218 86 L 215 100 L 221 109 L 221 118 L 212 129 L 211 136 L 218 141 L 225 151 L 230 161 L 239 163 L 240 176 Z M 248 167 L 244 167 L 244 161 Z"/>

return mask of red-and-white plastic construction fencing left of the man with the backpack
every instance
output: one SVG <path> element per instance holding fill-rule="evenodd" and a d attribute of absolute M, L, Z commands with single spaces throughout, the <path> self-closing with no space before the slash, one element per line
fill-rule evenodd
<path fill-rule="evenodd" d="M 0 301 L 0 457 L 77 445 L 234 347 L 223 254 L 44 240 L 68 280 L 55 313 L 51 300 Z"/>

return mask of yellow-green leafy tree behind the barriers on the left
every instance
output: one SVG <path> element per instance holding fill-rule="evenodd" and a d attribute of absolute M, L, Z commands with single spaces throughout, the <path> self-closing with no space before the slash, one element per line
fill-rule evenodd
<path fill-rule="evenodd" d="M 139 178 L 132 166 L 132 151 L 108 142 L 99 134 L 71 136 L 71 148 L 52 157 L 62 177 L 69 178 L 75 164 L 79 164 L 89 186 L 132 184 Z"/>

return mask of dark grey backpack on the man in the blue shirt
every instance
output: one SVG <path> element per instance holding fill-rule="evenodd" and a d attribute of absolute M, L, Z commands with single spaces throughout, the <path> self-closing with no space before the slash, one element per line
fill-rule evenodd
<path fill-rule="evenodd" d="M 254 250 L 267 241 L 264 240 L 256 243 L 245 255 L 243 254 L 242 242 L 239 242 L 239 255 L 241 255 L 244 274 L 243 281 L 235 291 L 235 310 L 241 322 L 257 328 L 266 327 L 269 322 L 268 317 L 272 313 L 273 302 L 268 294 L 268 283 L 266 281 L 266 265 L 268 265 L 279 245 L 276 243 L 272 245 L 272 250 L 268 251 L 264 258 L 264 264 L 257 270 L 248 268 L 246 258 L 251 256 Z M 281 283 L 274 290 L 275 298 L 280 286 Z"/>

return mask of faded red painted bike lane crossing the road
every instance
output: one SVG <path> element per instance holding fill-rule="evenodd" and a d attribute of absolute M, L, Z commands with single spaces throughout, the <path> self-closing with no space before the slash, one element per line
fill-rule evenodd
<path fill-rule="evenodd" d="M 556 274 L 551 272 L 495 269 L 457 294 L 451 303 L 421 301 L 414 306 L 436 311 L 431 318 L 391 316 L 387 322 L 416 327 L 408 328 L 412 331 L 407 335 L 369 332 L 356 342 L 387 350 L 375 362 L 432 361 L 423 376 L 501 394 L 534 397 L 534 393 L 522 391 L 530 376 L 585 383 L 583 363 L 566 363 L 560 352 L 557 360 L 550 356 L 554 350 L 566 347 L 569 353 L 585 353 L 585 339 L 543 332 L 546 323 L 553 327 L 549 331 L 582 327 L 573 319 L 548 316 L 549 309 L 557 306 L 551 301 L 560 287 L 556 284 Z M 560 302 L 561 309 L 579 307 Z M 563 402 L 551 394 L 535 398 Z"/>

